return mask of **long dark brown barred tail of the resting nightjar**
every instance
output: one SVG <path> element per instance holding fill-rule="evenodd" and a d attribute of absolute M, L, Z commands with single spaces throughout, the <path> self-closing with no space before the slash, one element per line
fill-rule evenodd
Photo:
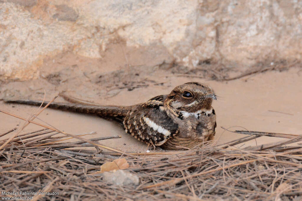
<path fill-rule="evenodd" d="M 6 100 L 5 102 L 36 105 L 36 106 L 40 106 L 42 104 L 42 101 L 31 101 L 31 100 Z M 42 106 L 45 105 L 47 105 L 47 102 L 44 102 Z M 127 112 L 131 108 L 131 106 L 114 106 L 114 105 L 95 106 L 95 105 L 83 105 L 83 104 L 73 104 L 73 103 L 51 103 L 48 107 L 58 110 L 97 114 L 98 116 L 105 117 L 105 118 L 106 117 L 124 118 L 127 115 Z"/>

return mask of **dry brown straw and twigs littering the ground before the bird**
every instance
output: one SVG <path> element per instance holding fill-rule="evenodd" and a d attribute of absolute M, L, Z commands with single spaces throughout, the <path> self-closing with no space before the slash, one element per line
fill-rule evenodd
<path fill-rule="evenodd" d="M 21 129 L 0 134 L 2 192 L 58 194 L 34 195 L 34 200 L 302 200 L 302 146 L 287 146 L 302 135 L 236 131 L 249 136 L 186 151 L 126 153 L 98 143 L 120 136 L 88 140 L 81 136 L 94 132 L 68 134 L 34 122 L 35 117 L 24 119 Z M 23 133 L 28 123 L 44 128 Z M 286 139 L 235 147 L 260 136 Z M 77 141 L 63 142 L 71 138 Z M 100 165 L 118 158 L 128 161 L 127 171 L 140 178 L 139 186 L 102 180 Z"/>

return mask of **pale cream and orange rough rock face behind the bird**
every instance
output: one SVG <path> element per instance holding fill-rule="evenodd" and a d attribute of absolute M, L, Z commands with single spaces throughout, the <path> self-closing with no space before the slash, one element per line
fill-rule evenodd
<path fill-rule="evenodd" d="M 67 51 L 101 62 L 112 43 L 142 49 L 152 65 L 176 62 L 191 69 L 204 61 L 239 70 L 300 61 L 302 2 L 0 2 L 2 80 L 37 78 L 43 59 Z"/>

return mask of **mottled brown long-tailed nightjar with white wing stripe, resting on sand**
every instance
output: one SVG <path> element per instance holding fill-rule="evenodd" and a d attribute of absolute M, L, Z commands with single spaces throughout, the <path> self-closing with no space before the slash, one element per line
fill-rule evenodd
<path fill-rule="evenodd" d="M 217 98 L 209 86 L 188 82 L 175 87 L 170 94 L 133 106 L 51 103 L 48 107 L 121 120 L 125 131 L 138 140 L 164 149 L 179 150 L 213 139 L 216 128 L 216 114 L 211 106 L 213 99 Z M 42 103 L 6 102 L 38 106 Z"/>

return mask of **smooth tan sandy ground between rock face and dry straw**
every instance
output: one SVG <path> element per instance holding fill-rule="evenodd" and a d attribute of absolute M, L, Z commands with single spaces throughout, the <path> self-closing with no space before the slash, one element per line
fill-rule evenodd
<path fill-rule="evenodd" d="M 62 60 L 64 59 L 66 58 L 62 57 Z M 97 61 L 92 62 L 97 63 Z M 50 63 L 51 61 L 45 61 L 44 69 L 41 69 L 41 77 L 45 77 L 47 74 L 45 69 Z M 102 76 L 99 76 L 98 73 L 106 73 L 105 71 L 108 72 L 108 69 L 103 72 L 101 70 L 96 72 L 93 71 L 92 67 L 90 69 L 89 67 L 85 68 L 91 63 L 82 62 L 82 65 L 73 65 L 71 67 L 66 67 L 63 61 L 58 63 L 63 64 L 60 65 L 61 67 L 53 67 L 48 73 L 60 72 L 59 74 L 49 74 L 53 76 L 35 81 L 11 82 L 3 85 L 1 87 L 2 98 L 8 96 L 41 100 L 43 99 L 43 89 L 45 89 L 47 93 L 46 100 L 51 100 L 60 91 L 67 91 L 68 94 L 74 97 L 100 104 L 132 105 L 144 102 L 159 94 L 168 94 L 175 86 L 185 82 L 198 81 L 210 85 L 219 96 L 219 99 L 213 102 L 213 107 L 217 113 L 215 139 L 220 142 L 228 142 L 244 136 L 228 131 L 224 132 L 221 126 L 225 128 L 236 126 L 232 127 L 231 130 L 248 129 L 302 134 L 302 72 L 300 68 L 291 68 L 283 72 L 269 71 L 233 81 L 213 81 L 203 78 L 175 76 L 163 69 L 155 69 L 152 73 L 137 73 L 139 75 L 134 75 L 134 72 L 131 72 L 131 75 L 120 72 L 125 80 L 131 80 L 132 85 L 137 86 L 137 88 L 133 89 L 133 87 L 120 87 L 120 84 L 117 83 L 122 81 L 119 81 L 119 79 L 112 81 L 115 78 L 111 74 L 108 75 L 111 79 L 111 81 L 108 81 L 109 84 L 112 84 L 110 85 L 111 87 L 107 86 L 109 84 L 106 85 L 106 81 L 97 81 L 97 79 L 104 78 L 103 75 L 107 75 L 102 74 Z M 71 68 L 74 69 L 70 70 Z M 118 69 L 122 69 L 122 67 Z M 82 77 L 77 77 L 76 72 L 81 72 Z M 62 81 L 64 73 L 69 78 L 69 73 L 73 73 L 74 77 Z M 135 76 L 137 76 L 137 79 Z M 57 78 L 60 79 L 56 80 Z M 79 80 L 82 81 L 79 82 Z M 54 83 L 56 81 L 58 83 Z M 124 85 L 126 86 L 127 83 L 124 83 Z M 56 101 L 64 102 L 60 97 Z M 37 109 L 37 107 L 33 106 L 5 104 L 3 101 L 0 101 L 0 108 L 25 118 L 33 110 Z M 85 136 L 86 138 L 118 134 L 122 138 L 103 140 L 100 143 L 122 151 L 145 152 L 147 149 L 147 145 L 125 133 L 119 124 L 97 116 L 46 109 L 39 115 L 39 118 L 60 130 L 72 134 L 97 132 L 96 135 Z M 4 113 L 0 113 L 0 119 L 0 134 L 23 124 L 22 120 Z M 40 122 L 40 120 L 37 121 Z M 39 126 L 29 125 L 24 132 L 38 129 L 40 129 Z M 256 145 L 256 143 L 260 145 L 279 140 L 284 139 L 260 137 L 256 140 L 239 144 L 237 147 Z"/>

